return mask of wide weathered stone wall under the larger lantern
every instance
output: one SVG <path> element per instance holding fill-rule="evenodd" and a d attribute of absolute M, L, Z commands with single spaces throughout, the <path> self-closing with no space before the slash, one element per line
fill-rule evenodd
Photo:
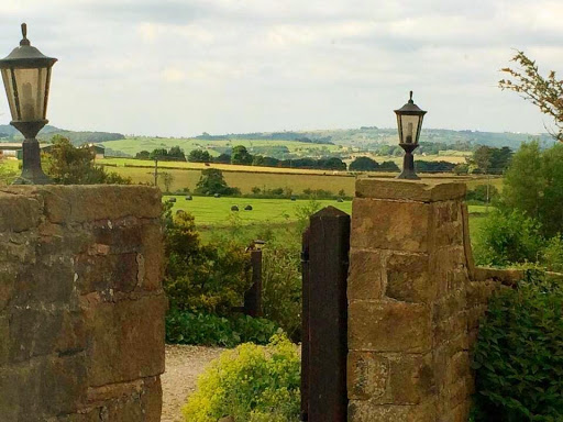
<path fill-rule="evenodd" d="M 0 420 L 159 421 L 161 196 L 0 190 Z"/>

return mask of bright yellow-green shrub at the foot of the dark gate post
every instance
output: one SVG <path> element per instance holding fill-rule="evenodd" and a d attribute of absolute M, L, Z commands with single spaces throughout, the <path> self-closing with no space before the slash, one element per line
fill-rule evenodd
<path fill-rule="evenodd" d="M 183 412 L 187 422 L 299 421 L 298 348 L 274 336 L 267 346 L 243 344 L 214 360 L 199 378 Z"/>

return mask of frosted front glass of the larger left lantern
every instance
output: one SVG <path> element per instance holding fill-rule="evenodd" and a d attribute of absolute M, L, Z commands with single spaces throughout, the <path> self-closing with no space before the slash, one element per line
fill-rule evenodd
<path fill-rule="evenodd" d="M 20 102 L 20 120 L 36 121 L 45 119 L 45 92 L 47 68 L 14 69 Z"/>

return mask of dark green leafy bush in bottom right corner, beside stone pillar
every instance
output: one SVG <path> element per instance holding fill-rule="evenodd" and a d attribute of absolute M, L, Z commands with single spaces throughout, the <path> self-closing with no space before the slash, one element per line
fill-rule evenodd
<path fill-rule="evenodd" d="M 492 298 L 474 352 L 474 420 L 563 420 L 563 288 L 529 273 Z"/>

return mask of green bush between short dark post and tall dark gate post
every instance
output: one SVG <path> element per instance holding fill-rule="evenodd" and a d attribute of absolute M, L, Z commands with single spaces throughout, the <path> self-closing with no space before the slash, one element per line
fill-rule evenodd
<path fill-rule="evenodd" d="M 262 252 L 264 316 L 294 341 L 301 336 L 301 271 L 299 244 L 267 245 Z"/>

